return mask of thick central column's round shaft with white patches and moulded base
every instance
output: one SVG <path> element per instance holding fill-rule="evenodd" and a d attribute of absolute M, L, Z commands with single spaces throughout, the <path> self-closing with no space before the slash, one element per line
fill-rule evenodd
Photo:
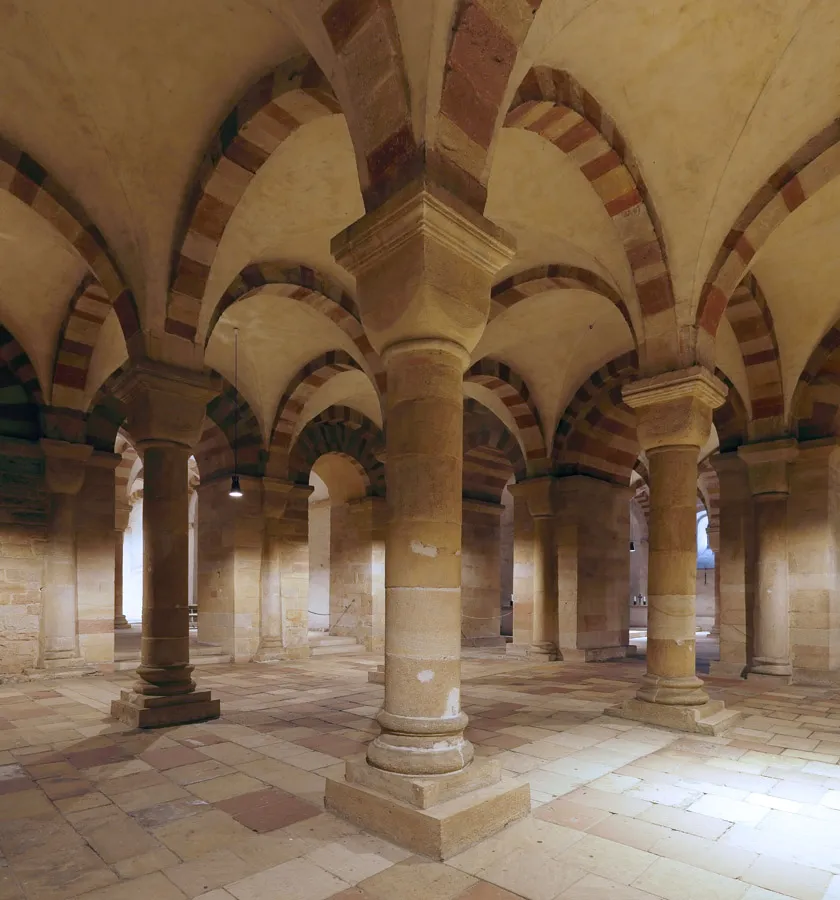
<path fill-rule="evenodd" d="M 385 354 L 385 704 L 368 761 L 443 774 L 473 758 L 461 712 L 461 475 L 467 354 L 412 341 Z"/>

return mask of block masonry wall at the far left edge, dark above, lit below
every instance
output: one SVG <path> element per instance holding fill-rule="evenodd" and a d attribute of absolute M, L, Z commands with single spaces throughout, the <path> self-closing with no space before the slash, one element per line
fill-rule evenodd
<path fill-rule="evenodd" d="M 0 442 L 0 673 L 40 661 L 48 494 L 40 448 Z"/>

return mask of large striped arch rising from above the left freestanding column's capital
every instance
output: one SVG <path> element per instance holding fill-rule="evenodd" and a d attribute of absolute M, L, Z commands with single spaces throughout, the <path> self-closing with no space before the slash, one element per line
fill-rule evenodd
<path fill-rule="evenodd" d="M 222 235 L 263 164 L 302 125 L 337 112 L 332 89 L 304 55 L 263 76 L 228 113 L 204 152 L 189 193 L 186 233 L 166 303 L 168 334 L 195 340 Z"/>

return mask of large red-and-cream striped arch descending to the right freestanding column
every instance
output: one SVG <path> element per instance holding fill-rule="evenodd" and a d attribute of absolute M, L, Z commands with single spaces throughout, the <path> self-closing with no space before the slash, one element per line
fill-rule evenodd
<path fill-rule="evenodd" d="M 568 72 L 545 66 L 522 81 L 505 125 L 541 135 L 580 166 L 624 245 L 642 316 L 673 310 L 665 239 L 639 165 L 616 123 Z"/>

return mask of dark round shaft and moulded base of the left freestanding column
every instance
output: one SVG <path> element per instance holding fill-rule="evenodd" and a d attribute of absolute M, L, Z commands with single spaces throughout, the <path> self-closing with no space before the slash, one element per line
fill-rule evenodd
<path fill-rule="evenodd" d="M 147 445 L 143 459 L 143 636 L 138 694 L 195 690 L 189 664 L 188 447 Z"/>

